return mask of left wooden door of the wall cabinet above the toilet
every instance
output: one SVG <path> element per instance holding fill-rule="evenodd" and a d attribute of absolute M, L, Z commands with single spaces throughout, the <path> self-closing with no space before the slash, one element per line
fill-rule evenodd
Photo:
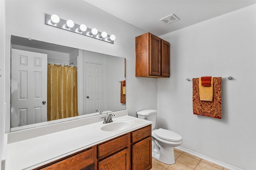
<path fill-rule="evenodd" d="M 149 75 L 161 75 L 161 39 L 149 34 Z"/>

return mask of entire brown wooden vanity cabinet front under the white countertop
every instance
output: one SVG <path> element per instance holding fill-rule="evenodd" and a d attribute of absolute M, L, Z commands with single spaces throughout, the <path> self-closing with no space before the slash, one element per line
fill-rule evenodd
<path fill-rule="evenodd" d="M 34 170 L 150 170 L 151 125 L 81 150 Z"/>

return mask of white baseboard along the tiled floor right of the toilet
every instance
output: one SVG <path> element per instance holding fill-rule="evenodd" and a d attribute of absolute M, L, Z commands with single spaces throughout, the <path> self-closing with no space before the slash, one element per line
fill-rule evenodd
<path fill-rule="evenodd" d="M 180 147 L 180 146 L 177 146 L 177 147 L 175 147 L 175 148 L 178 149 L 178 150 L 182 150 L 182 151 L 184 151 L 184 152 L 186 152 L 186 153 L 192 154 L 192 155 L 194 155 L 194 156 L 197 156 L 197 157 L 199 157 L 199 158 L 202 158 L 202 159 L 204 159 L 204 160 L 207 160 L 207 161 L 209 161 L 209 162 L 212 162 L 212 163 L 214 163 L 214 164 L 220 165 L 220 166 L 222 166 L 222 167 L 224 167 L 224 168 L 227 168 L 227 169 L 230 169 L 230 170 L 242 170 L 242 169 L 236 168 L 236 167 L 234 167 L 234 166 L 231 166 L 231 165 L 229 165 L 229 164 L 225 164 L 225 163 L 220 162 L 220 161 L 218 161 L 218 160 L 209 158 L 208 156 L 204 156 L 204 155 L 202 155 L 202 154 L 198 154 L 198 153 L 193 152 L 193 151 L 191 151 L 191 150 L 188 150 L 188 149 L 186 149 L 186 148 L 182 148 L 182 147 Z"/>

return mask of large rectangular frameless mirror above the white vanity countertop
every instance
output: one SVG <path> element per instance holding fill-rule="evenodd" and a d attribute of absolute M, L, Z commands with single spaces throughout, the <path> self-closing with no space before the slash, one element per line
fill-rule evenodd
<path fill-rule="evenodd" d="M 11 50 L 11 131 L 98 115 L 97 109 L 103 113 L 126 109 L 125 102 L 120 101 L 126 94 L 121 93 L 125 80 L 125 58 L 18 36 L 11 36 Z M 33 67 L 24 69 L 24 66 L 31 65 Z M 66 79 L 66 75 L 64 76 L 64 84 L 76 88 L 74 91 L 77 94 L 66 89 L 63 90 L 65 95 L 61 94 L 60 98 L 56 98 L 60 92 L 56 95 L 57 87 L 52 86 L 56 85 L 55 80 L 59 81 L 60 75 L 64 73 L 57 75 L 56 72 L 49 71 L 50 66 L 64 70 L 76 69 L 74 79 Z M 32 73 L 29 74 L 30 72 Z M 49 75 L 49 72 L 54 74 Z M 63 88 L 63 85 L 60 86 Z M 51 93 L 49 89 L 52 89 Z M 58 91 L 59 89 L 58 86 Z M 28 98 L 32 100 L 29 101 Z M 51 100 L 48 101 L 49 99 Z M 68 104 L 65 108 L 69 108 L 65 113 L 70 113 L 70 109 L 77 105 L 76 115 L 49 119 L 49 105 L 57 109 L 51 112 L 55 114 L 59 112 L 58 109 L 63 110 L 59 108 L 60 105 L 73 99 L 77 100 L 76 103 Z M 56 103 L 60 100 L 61 103 Z M 33 106 L 31 103 L 35 101 L 38 103 Z M 28 109 L 28 105 L 31 109 Z"/>

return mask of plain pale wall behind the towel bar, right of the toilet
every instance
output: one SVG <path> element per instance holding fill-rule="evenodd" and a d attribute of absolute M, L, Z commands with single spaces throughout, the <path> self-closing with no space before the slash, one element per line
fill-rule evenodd
<path fill-rule="evenodd" d="M 171 76 L 158 79 L 158 127 L 183 148 L 243 170 L 256 169 L 256 5 L 161 36 L 171 44 Z M 222 80 L 222 119 L 193 115 L 192 82 Z"/>

